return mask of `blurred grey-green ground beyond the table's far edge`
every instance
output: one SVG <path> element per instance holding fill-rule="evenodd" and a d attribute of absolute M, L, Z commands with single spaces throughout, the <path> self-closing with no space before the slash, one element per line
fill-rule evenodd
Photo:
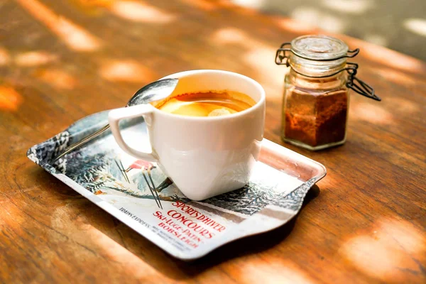
<path fill-rule="evenodd" d="M 426 0 L 231 0 L 426 61 Z"/>

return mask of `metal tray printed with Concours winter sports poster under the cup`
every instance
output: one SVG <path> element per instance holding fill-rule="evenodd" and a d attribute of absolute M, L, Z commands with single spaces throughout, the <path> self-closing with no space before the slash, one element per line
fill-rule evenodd
<path fill-rule="evenodd" d="M 106 124 L 107 112 L 80 119 L 31 147 L 28 158 L 182 260 L 200 258 L 230 241 L 282 226 L 299 212 L 312 185 L 326 175 L 315 160 L 264 139 L 246 187 L 195 202 L 182 195 L 155 163 L 121 151 L 110 131 L 53 163 L 67 146 Z M 146 137 L 149 147 L 143 120 L 124 121 L 122 128 L 129 144 L 141 147 Z M 156 192 L 148 187 L 150 180 Z"/>

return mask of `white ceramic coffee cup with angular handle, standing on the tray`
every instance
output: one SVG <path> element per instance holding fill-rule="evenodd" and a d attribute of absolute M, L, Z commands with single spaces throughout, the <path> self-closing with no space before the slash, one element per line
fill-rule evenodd
<path fill-rule="evenodd" d="M 165 175 L 192 200 L 204 200 L 244 187 L 258 158 L 265 121 L 265 91 L 255 80 L 234 72 L 192 70 L 165 78 L 178 78 L 171 96 L 193 92 L 234 91 L 249 95 L 256 104 L 226 116 L 182 116 L 151 104 L 114 109 L 109 125 L 119 146 L 136 158 L 158 163 Z M 119 121 L 143 116 L 151 153 L 129 146 Z"/>

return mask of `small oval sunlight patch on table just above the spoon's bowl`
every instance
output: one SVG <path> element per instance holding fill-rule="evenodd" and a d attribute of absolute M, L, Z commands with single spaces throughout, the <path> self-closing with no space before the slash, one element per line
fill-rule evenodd
<path fill-rule="evenodd" d="M 148 67 L 135 60 L 106 60 L 102 62 L 99 75 L 109 81 L 150 82 L 158 76 Z"/>

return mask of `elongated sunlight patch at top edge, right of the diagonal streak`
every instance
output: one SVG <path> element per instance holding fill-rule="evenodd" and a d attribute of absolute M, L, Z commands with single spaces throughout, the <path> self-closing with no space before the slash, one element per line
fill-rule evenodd
<path fill-rule="evenodd" d="M 115 1 L 107 9 L 116 16 L 136 22 L 170 23 L 176 18 L 172 13 L 136 1 Z"/>

